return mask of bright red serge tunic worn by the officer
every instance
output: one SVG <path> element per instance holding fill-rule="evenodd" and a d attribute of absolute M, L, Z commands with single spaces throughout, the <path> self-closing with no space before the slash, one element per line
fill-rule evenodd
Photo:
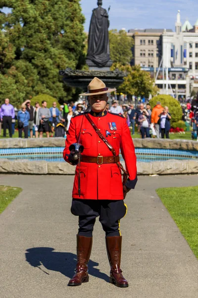
<path fill-rule="evenodd" d="M 103 136 L 106 137 L 106 131 L 111 134 L 111 136 L 108 135 L 107 140 L 115 149 L 116 155 L 119 155 L 121 149 L 122 156 L 125 160 L 126 170 L 129 174 L 129 178 L 125 185 L 128 188 L 135 188 L 137 182 L 136 154 L 126 119 L 122 115 L 106 111 L 99 114 L 95 114 L 91 111 L 89 115 Z M 117 128 L 116 131 L 111 131 L 109 129 L 109 122 L 115 123 Z M 113 156 L 110 149 L 108 149 L 106 144 L 99 138 L 90 122 L 86 119 L 86 117 L 83 117 L 83 114 L 78 114 L 71 119 L 67 134 L 63 157 L 65 161 L 70 164 L 72 164 L 72 162 L 69 159 L 69 146 L 74 143 L 80 143 L 84 146 L 82 155 L 96 157 Z M 81 162 L 80 197 L 78 195 L 78 173 L 79 166 L 77 165 L 72 192 L 72 197 L 74 199 L 123 200 L 121 170 L 116 163 L 97 164 Z"/>

